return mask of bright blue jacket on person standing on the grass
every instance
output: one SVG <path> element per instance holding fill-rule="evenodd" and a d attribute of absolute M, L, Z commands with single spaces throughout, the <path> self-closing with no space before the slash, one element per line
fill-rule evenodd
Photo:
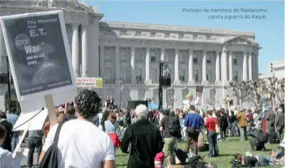
<path fill-rule="evenodd" d="M 204 125 L 204 121 L 199 114 L 190 113 L 186 115 L 184 125 L 186 127 L 194 127 L 195 129 L 200 129 Z"/>

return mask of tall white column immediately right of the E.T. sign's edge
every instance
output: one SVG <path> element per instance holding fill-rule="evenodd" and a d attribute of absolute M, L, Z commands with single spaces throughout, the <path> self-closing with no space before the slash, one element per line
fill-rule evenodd
<path fill-rule="evenodd" d="M 78 37 L 78 23 L 73 23 L 72 25 L 72 65 L 74 74 L 76 77 L 79 77 L 80 68 L 79 68 L 79 37 Z"/>

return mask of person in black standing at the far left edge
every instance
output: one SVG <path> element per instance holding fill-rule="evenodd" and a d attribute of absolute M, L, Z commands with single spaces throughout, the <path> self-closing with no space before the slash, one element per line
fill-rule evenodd
<path fill-rule="evenodd" d="M 12 133 L 13 125 L 10 122 L 8 122 L 6 119 L 7 119 L 6 113 L 0 112 L 0 125 L 3 125 L 7 131 L 5 141 L 1 145 L 1 147 L 3 149 L 6 149 L 6 150 L 9 150 L 10 152 L 12 152 L 11 135 L 13 135 L 13 133 Z"/>

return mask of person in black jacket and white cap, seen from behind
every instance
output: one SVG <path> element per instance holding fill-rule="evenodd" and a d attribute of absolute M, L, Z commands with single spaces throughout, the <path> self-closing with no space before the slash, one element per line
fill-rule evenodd
<path fill-rule="evenodd" d="M 135 113 L 138 121 L 125 130 L 120 149 L 130 154 L 128 168 L 155 168 L 155 155 L 162 151 L 160 131 L 147 120 L 145 105 L 138 105 Z"/>

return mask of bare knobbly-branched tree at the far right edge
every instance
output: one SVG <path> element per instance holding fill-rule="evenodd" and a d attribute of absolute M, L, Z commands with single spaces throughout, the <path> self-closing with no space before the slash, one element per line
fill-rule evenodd
<path fill-rule="evenodd" d="M 273 77 L 259 80 L 259 93 L 262 98 L 269 100 L 270 106 L 275 108 L 276 99 L 279 103 L 284 103 L 284 78 L 278 79 Z"/>

